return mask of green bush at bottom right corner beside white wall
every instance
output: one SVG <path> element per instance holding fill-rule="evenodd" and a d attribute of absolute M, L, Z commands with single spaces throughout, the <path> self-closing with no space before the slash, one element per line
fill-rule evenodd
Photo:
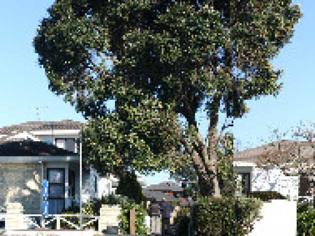
<path fill-rule="evenodd" d="M 297 236 L 315 235 L 315 209 L 307 203 L 297 204 Z"/>

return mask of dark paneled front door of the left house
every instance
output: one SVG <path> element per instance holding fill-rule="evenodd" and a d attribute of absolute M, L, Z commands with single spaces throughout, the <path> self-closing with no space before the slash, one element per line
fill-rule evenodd
<path fill-rule="evenodd" d="M 64 169 L 48 168 L 48 212 L 60 214 L 64 209 Z"/>

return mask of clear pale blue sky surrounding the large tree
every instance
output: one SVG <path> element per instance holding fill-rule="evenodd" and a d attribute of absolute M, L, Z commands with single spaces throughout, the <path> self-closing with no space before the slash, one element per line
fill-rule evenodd
<path fill-rule="evenodd" d="M 73 119 L 83 121 L 73 107 L 65 104 L 48 89 L 44 69 L 37 62 L 32 47 L 32 38 L 46 9 L 53 0 L 10 0 L 0 6 L 0 127 L 38 120 L 36 107 L 48 106 L 39 113 L 41 120 Z M 261 97 L 248 102 L 250 112 L 244 118 L 236 119 L 234 137 L 241 141 L 242 148 L 256 147 L 269 140 L 271 129 L 281 131 L 297 126 L 300 120 L 313 121 L 314 55 L 315 55 L 315 1 L 293 0 L 301 3 L 304 14 L 295 27 L 294 37 L 273 65 L 283 69 L 284 89 L 278 98 Z M 224 115 L 220 116 L 220 124 Z M 207 121 L 204 114 L 198 114 L 200 129 L 205 135 Z M 269 128 L 270 126 L 271 128 Z M 264 142 L 259 141 L 263 139 Z M 167 180 L 165 173 L 155 177 L 144 177 L 149 183 Z"/>

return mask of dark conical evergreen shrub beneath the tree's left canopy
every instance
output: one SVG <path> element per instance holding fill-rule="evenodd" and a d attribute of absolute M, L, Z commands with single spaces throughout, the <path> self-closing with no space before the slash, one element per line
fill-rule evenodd
<path fill-rule="evenodd" d="M 142 187 L 137 180 L 137 176 L 133 172 L 128 172 L 125 175 L 120 176 L 119 184 L 116 189 L 116 194 L 131 198 L 135 201 L 136 204 L 146 202 Z"/>

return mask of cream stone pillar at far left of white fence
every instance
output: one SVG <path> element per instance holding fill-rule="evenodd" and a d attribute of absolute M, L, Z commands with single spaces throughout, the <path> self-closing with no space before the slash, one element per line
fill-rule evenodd
<path fill-rule="evenodd" d="M 5 214 L 5 230 L 22 230 L 26 229 L 24 222 L 23 206 L 21 203 L 9 203 Z"/>

